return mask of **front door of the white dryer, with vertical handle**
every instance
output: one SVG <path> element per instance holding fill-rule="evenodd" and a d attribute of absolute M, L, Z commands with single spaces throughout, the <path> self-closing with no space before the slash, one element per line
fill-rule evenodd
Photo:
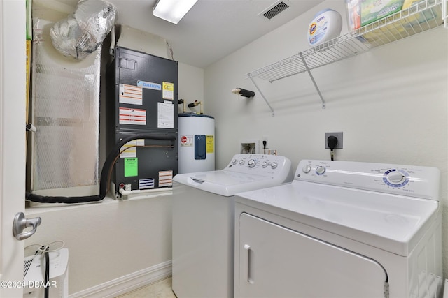
<path fill-rule="evenodd" d="M 378 262 L 249 214 L 239 219 L 237 297 L 385 297 Z"/>

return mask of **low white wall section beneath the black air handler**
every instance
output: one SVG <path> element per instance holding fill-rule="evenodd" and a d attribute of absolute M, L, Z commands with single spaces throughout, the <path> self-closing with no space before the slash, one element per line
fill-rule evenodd
<path fill-rule="evenodd" d="M 151 267 L 166 263 L 167 268 L 155 274 L 160 279 L 163 274 L 171 275 L 171 202 L 170 196 L 160 196 L 106 199 L 45 211 L 27 209 L 28 218 L 40 216 L 42 223 L 26 245 L 65 242 L 69 248 L 69 294 L 85 291 L 76 297 L 87 297 L 86 293 L 112 286 L 108 285 L 111 281 L 123 282 L 135 272 L 151 271 Z"/>

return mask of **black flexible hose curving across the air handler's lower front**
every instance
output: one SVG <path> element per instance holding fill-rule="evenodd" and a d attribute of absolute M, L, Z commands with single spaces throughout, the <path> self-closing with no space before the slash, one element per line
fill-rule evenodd
<path fill-rule="evenodd" d="M 120 149 L 123 147 L 124 144 L 127 142 L 130 142 L 132 140 L 137 139 L 148 139 L 148 140 L 167 140 L 167 141 L 174 141 L 176 140 L 176 137 L 174 136 L 168 136 L 168 135 L 154 135 L 149 133 L 139 133 L 137 135 L 130 135 L 129 137 L 125 137 L 123 140 L 118 142 L 115 147 L 111 150 L 109 155 L 106 158 L 106 161 L 104 161 L 103 169 L 101 171 L 101 177 L 99 180 L 99 194 L 98 195 L 87 195 L 87 196 L 80 196 L 80 197 L 62 197 L 62 196 L 43 196 L 43 195 L 36 195 L 34 193 L 27 192 L 25 194 L 25 199 L 31 201 L 31 202 L 40 202 L 40 203 L 66 203 L 66 204 L 75 204 L 75 203 L 86 203 L 86 202 L 98 202 L 104 199 L 107 194 L 108 185 L 107 185 L 107 175 L 109 173 L 109 170 L 114 165 L 114 161 L 116 156 L 120 154 Z"/>

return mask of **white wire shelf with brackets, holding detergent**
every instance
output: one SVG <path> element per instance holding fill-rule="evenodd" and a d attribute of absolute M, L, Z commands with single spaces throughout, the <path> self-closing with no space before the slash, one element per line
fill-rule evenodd
<path fill-rule="evenodd" d="M 253 77 L 274 82 L 285 77 L 308 72 L 319 96 L 321 96 L 310 70 L 367 52 L 374 47 L 393 43 L 417 33 L 440 27 L 442 24 L 447 28 L 447 1 L 423 0 L 414 6 L 367 24 L 360 29 L 247 73 L 246 79 L 250 78 L 254 84 Z M 258 89 L 256 84 L 255 87 Z M 262 97 L 269 105 L 266 98 L 263 95 Z M 323 107 L 325 107 L 322 96 L 321 100 Z M 272 110 L 270 105 L 269 108 Z M 273 110 L 272 114 L 274 114 Z"/>

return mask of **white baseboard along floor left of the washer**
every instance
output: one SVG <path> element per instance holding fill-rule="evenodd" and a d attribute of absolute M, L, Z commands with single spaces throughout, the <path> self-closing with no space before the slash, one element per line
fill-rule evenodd
<path fill-rule="evenodd" d="M 69 295 L 69 298 L 113 298 L 132 290 L 151 285 L 172 276 L 172 261 L 160 263 L 146 269 L 96 285 Z M 70 290 L 70 285 L 69 285 Z"/>

